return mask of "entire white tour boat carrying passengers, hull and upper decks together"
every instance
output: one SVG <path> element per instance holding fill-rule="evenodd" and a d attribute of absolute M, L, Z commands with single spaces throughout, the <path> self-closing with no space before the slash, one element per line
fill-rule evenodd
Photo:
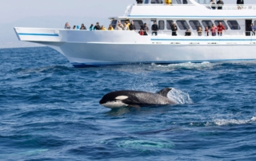
<path fill-rule="evenodd" d="M 204 1 L 205 2 L 205 1 Z M 221 7 L 221 10 L 217 10 Z M 215 10 L 214 10 L 215 8 Z M 256 59 L 256 5 L 210 5 L 200 0 L 143 0 L 129 5 L 118 21 L 133 21 L 136 30 L 80 30 L 15 27 L 18 40 L 50 46 L 62 53 L 74 67 L 123 65 L 133 63 L 171 64 L 182 62 L 250 61 Z M 151 26 L 158 24 L 158 34 Z M 176 22 L 177 36 L 171 26 Z M 206 26 L 225 26 L 222 36 L 204 32 Z M 147 35 L 139 29 L 146 23 Z M 198 36 L 198 27 L 202 36 Z M 190 29 L 190 36 L 185 36 Z"/>

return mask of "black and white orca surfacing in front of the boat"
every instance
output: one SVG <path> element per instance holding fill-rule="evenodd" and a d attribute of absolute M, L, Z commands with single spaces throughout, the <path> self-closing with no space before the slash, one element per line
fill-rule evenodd
<path fill-rule="evenodd" d="M 167 97 L 170 90 L 171 88 L 164 88 L 157 93 L 129 90 L 109 92 L 102 97 L 99 104 L 106 108 L 139 108 L 143 106 L 176 104 L 174 100 L 170 100 Z"/>

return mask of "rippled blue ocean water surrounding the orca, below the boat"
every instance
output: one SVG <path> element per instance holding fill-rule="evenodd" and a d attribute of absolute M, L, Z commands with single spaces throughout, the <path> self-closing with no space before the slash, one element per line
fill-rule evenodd
<path fill-rule="evenodd" d="M 256 61 L 76 69 L 47 47 L 0 49 L 0 160 L 256 160 Z M 122 89 L 177 105 L 104 108 Z"/>

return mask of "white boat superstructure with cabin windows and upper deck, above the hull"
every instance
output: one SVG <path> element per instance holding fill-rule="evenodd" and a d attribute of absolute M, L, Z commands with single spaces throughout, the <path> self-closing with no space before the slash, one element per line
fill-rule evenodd
<path fill-rule="evenodd" d="M 172 34 L 174 22 L 178 26 L 178 36 L 185 36 L 187 29 L 190 29 L 191 36 L 198 36 L 199 27 L 204 32 L 206 26 L 210 29 L 213 24 L 218 26 L 222 22 L 226 36 L 251 36 L 250 24 L 256 26 L 255 13 L 256 4 L 244 5 L 242 10 L 238 10 L 236 4 L 225 4 L 218 10 L 218 6 L 210 6 L 206 0 L 172 0 L 170 5 L 164 0 L 143 0 L 142 4 L 128 6 L 122 17 L 110 19 L 114 28 L 118 21 L 123 24 L 127 19 L 134 22 L 136 30 L 146 23 L 150 29 L 149 35 L 154 22 L 158 24 L 158 35 L 166 36 Z"/>

